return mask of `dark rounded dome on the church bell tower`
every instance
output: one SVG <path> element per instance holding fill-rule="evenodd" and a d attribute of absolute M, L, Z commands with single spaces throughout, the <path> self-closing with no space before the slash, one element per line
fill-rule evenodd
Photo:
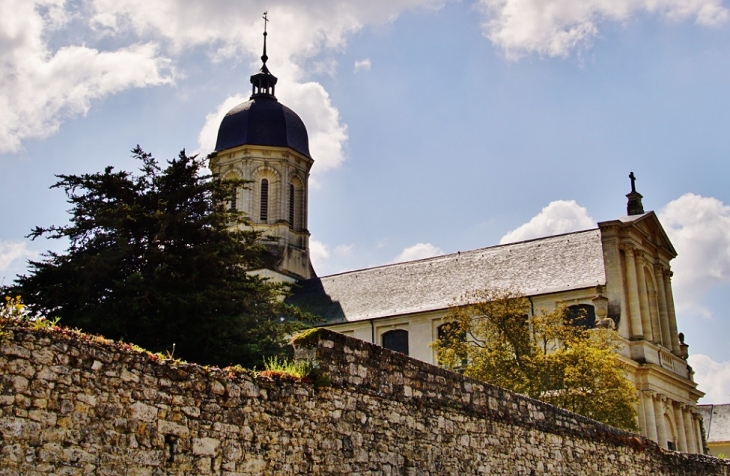
<path fill-rule="evenodd" d="M 307 128 L 275 97 L 257 95 L 234 107 L 221 121 L 216 152 L 240 145 L 289 147 L 309 158 Z"/>

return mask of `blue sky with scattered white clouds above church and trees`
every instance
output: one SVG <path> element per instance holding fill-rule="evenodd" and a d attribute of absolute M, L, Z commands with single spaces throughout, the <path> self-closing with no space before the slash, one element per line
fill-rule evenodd
<path fill-rule="evenodd" d="M 310 132 L 320 275 L 593 226 L 634 171 L 680 253 L 679 327 L 730 401 L 727 0 L 0 0 L 0 277 L 68 205 L 54 174 L 207 153 L 261 13 Z"/>

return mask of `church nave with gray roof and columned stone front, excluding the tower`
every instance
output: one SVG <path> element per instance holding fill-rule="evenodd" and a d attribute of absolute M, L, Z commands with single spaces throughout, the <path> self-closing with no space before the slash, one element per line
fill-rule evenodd
<path fill-rule="evenodd" d="M 648 212 L 599 223 L 596 230 L 322 277 L 322 284 L 310 289 L 323 289 L 320 294 L 342 309 L 338 320 L 325 323 L 328 328 L 381 345 L 387 333 L 405 331 L 408 354 L 432 364 L 430 344 L 438 338 L 450 299 L 463 292 L 518 287 L 533 312 L 558 305 L 590 309 L 596 321 L 608 317 L 617 324 L 627 378 L 638 390 L 642 435 L 663 448 L 702 453 L 697 400 L 704 394 L 692 380 L 687 345 L 678 337 L 669 266 L 675 256 L 656 215 Z M 308 308 L 310 289 L 296 290 L 304 299 L 295 304 L 317 314 L 324 307 Z M 417 296 L 422 309 L 383 307 L 385 289 L 408 295 L 389 296 L 392 301 Z"/>

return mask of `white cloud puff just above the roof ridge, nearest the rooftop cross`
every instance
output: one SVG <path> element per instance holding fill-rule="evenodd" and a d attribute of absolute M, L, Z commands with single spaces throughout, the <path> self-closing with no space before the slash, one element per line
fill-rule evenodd
<path fill-rule="evenodd" d="M 596 221 L 588 215 L 588 210 L 578 205 L 575 200 L 556 200 L 550 202 L 529 222 L 504 235 L 499 242 L 514 243 L 595 226 Z"/>

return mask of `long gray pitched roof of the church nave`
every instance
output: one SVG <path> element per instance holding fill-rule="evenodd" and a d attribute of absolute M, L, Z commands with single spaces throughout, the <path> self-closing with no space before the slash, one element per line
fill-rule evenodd
<path fill-rule="evenodd" d="M 314 278 L 287 302 L 327 323 L 447 308 L 467 291 L 528 296 L 606 284 L 598 229 Z"/>

